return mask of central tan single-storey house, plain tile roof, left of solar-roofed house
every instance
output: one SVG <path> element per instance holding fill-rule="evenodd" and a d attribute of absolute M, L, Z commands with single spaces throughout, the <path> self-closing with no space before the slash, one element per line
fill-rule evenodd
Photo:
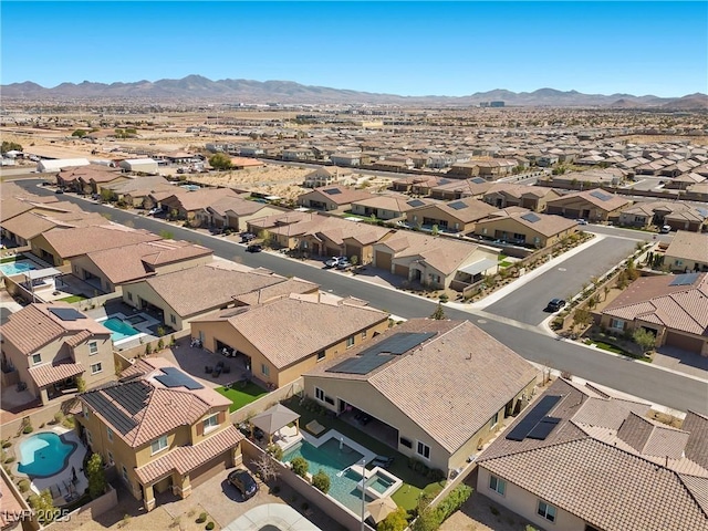
<path fill-rule="evenodd" d="M 243 356 L 275 387 L 388 329 L 388 314 L 360 300 L 284 293 L 262 301 L 194 320 L 191 335 L 207 350 Z"/>

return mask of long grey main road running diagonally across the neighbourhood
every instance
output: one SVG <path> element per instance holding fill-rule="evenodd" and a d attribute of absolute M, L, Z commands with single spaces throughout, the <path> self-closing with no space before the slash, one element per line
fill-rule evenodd
<path fill-rule="evenodd" d="M 39 190 L 40 194 L 51 194 L 50 190 L 32 186 L 31 181 L 24 181 L 22 186 L 29 187 L 32 191 Z M 87 211 L 110 212 L 112 220 L 116 222 L 131 221 L 129 225 L 135 228 L 154 232 L 165 230 L 164 223 L 152 218 L 95 205 L 72 195 L 64 195 L 63 199 L 76 202 Z M 325 291 L 339 295 L 358 296 L 369 301 L 373 306 L 396 315 L 425 317 L 435 310 L 436 304 L 429 300 L 377 284 L 361 282 L 346 274 L 333 271 L 325 272 L 275 253 L 248 253 L 241 244 L 179 227 L 170 226 L 168 230 L 176 239 L 189 240 L 209 247 L 214 249 L 215 254 L 221 258 L 232 260 L 238 257 L 239 261 L 247 266 L 268 268 L 283 275 L 300 277 L 320 284 Z M 487 312 L 446 308 L 445 313 L 449 319 L 469 319 L 485 332 L 532 362 L 568 371 L 581 378 L 620 389 L 655 404 L 678 410 L 693 409 L 708 414 L 708 384 L 706 382 L 662 371 L 641 362 L 625 361 L 603 351 L 591 350 L 575 343 L 559 341 L 528 324 L 509 323 L 506 320 L 496 321 L 493 315 Z"/>

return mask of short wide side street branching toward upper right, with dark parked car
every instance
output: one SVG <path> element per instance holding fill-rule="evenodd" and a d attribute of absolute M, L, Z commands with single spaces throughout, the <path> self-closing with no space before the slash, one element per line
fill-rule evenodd
<path fill-rule="evenodd" d="M 602 277 L 634 251 L 636 241 L 596 237 L 593 244 L 537 277 L 512 294 L 485 308 L 485 311 L 528 324 L 541 324 L 549 316 L 543 311 L 553 298 L 570 300 L 583 290 L 589 279 Z"/>

